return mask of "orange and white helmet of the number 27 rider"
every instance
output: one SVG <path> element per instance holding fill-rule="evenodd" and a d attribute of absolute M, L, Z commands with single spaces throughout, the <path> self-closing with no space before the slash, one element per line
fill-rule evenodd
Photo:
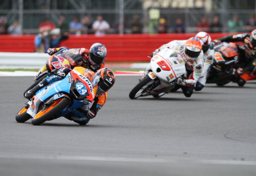
<path fill-rule="evenodd" d="M 188 61 L 194 61 L 202 50 L 202 44 L 198 38 L 191 37 L 186 41 L 185 56 Z"/>

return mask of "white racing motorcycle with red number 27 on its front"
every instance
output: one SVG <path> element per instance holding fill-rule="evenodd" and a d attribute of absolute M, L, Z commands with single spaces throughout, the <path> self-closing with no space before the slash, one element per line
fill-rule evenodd
<path fill-rule="evenodd" d="M 152 95 L 158 98 L 175 89 L 176 79 L 183 79 L 186 75 L 185 62 L 176 56 L 172 49 L 165 48 L 152 57 L 151 69 L 145 72 L 145 76 L 131 90 L 129 97 L 137 99 Z"/>

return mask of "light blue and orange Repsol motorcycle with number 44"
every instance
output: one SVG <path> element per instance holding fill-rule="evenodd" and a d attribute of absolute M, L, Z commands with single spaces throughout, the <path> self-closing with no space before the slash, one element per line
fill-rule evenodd
<path fill-rule="evenodd" d="M 90 80 L 79 71 L 72 70 L 64 79 L 39 90 L 16 114 L 16 121 L 23 123 L 32 118 L 33 125 L 40 125 L 89 105 L 94 96 Z"/>

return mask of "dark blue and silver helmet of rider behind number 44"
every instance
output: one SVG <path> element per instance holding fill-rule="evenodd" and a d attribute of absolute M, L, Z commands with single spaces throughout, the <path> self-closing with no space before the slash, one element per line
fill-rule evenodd
<path fill-rule="evenodd" d="M 101 43 L 94 43 L 90 47 L 89 62 L 92 65 L 100 64 L 105 60 L 106 55 L 107 55 L 106 47 Z"/>

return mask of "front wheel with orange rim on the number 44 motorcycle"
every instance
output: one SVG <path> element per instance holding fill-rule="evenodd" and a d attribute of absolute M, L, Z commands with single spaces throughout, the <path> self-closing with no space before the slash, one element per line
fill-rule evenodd
<path fill-rule="evenodd" d="M 67 97 L 61 97 L 52 102 L 52 105 L 43 108 L 39 111 L 32 119 L 33 125 L 40 125 L 47 120 L 52 119 L 56 114 L 58 114 L 62 109 L 64 109 L 70 100 Z"/>

